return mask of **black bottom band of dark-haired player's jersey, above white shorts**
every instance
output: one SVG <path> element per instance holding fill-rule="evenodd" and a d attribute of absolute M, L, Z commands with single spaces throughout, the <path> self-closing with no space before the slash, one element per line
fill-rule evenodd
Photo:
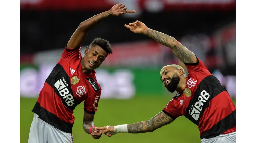
<path fill-rule="evenodd" d="M 54 126 L 55 128 L 66 133 L 72 133 L 73 124 L 60 120 L 60 118 L 58 118 L 56 115 L 41 107 L 40 103 L 36 102 L 32 112 L 37 114 L 41 120 Z"/>

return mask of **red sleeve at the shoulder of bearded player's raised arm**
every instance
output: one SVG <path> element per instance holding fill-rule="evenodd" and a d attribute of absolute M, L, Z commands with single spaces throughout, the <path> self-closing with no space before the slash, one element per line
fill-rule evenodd
<path fill-rule="evenodd" d="M 209 72 L 207 67 L 203 64 L 203 62 L 196 57 L 197 62 L 196 63 L 184 63 L 186 68 L 188 69 L 188 73 L 202 73 L 202 72 Z"/>

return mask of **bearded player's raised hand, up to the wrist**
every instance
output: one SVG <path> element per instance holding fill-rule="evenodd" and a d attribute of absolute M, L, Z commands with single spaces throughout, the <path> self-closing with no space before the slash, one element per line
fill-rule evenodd
<path fill-rule="evenodd" d="M 129 25 L 125 24 L 125 27 L 129 28 L 134 33 L 146 34 L 147 26 L 138 20 L 133 23 L 129 23 Z"/>

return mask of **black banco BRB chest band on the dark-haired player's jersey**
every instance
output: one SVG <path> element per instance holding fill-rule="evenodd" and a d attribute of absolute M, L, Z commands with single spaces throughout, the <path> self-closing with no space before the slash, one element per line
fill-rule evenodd
<path fill-rule="evenodd" d="M 54 92 L 61 98 L 62 103 L 70 110 L 74 110 L 80 104 L 73 96 L 70 77 L 62 65 L 57 64 L 53 68 L 49 77 L 46 79 L 46 83 L 54 89 Z"/>

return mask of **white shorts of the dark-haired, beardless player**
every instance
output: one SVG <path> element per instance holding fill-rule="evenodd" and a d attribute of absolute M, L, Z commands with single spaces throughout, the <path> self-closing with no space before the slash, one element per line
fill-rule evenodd
<path fill-rule="evenodd" d="M 73 135 L 53 127 L 34 114 L 28 143 L 73 143 Z"/>

